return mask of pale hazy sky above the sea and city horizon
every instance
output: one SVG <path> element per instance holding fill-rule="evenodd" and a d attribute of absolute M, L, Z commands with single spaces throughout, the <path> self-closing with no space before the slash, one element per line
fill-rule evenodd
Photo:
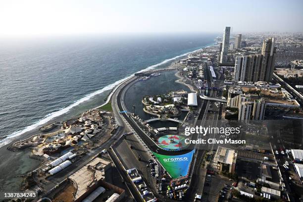
<path fill-rule="evenodd" d="M 0 0 L 0 35 L 303 32 L 303 0 Z"/>

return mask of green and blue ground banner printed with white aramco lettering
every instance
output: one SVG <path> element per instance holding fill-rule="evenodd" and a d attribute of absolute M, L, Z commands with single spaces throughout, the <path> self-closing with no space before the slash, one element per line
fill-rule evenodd
<path fill-rule="evenodd" d="M 182 155 L 162 155 L 153 152 L 154 156 L 173 179 L 187 175 L 194 153 L 195 150 Z"/>

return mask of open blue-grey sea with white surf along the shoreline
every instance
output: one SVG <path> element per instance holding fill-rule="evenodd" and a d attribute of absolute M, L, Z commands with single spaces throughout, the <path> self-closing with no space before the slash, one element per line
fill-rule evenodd
<path fill-rule="evenodd" d="M 119 82 L 214 43 L 216 34 L 0 39 L 0 145 L 104 103 Z M 5 144 L 3 144 L 5 143 Z"/>

